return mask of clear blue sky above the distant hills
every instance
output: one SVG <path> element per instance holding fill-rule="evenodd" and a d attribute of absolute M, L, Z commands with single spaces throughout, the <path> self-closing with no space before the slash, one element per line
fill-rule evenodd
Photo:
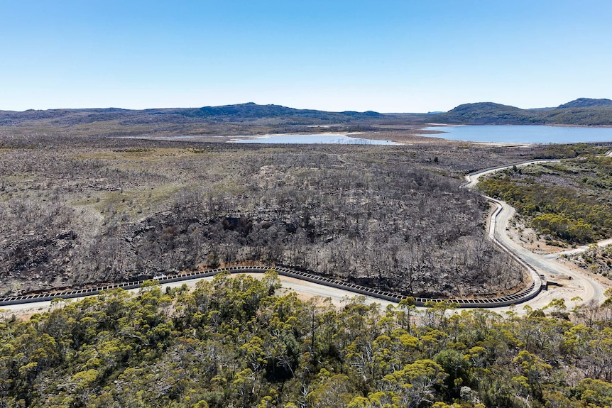
<path fill-rule="evenodd" d="M 612 99 L 611 0 L 0 0 L 0 109 Z"/>

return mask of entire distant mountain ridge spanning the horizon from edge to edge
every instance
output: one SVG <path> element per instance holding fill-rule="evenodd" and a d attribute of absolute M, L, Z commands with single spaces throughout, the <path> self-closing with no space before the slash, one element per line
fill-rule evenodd
<path fill-rule="evenodd" d="M 449 123 L 476 125 L 564 124 L 580 126 L 612 126 L 612 100 L 579 98 L 556 108 L 520 109 L 516 106 L 479 102 L 461 104 L 441 113 L 380 114 L 374 111 L 329 112 L 314 109 L 294 109 L 280 105 L 259 105 L 249 102 L 201 108 L 163 109 L 48 109 L 0 111 L 0 126 L 76 126 L 98 123 L 98 126 L 198 126 L 197 123 L 284 123 L 311 126 L 329 123 L 349 123 L 371 119 L 409 118 L 412 123 Z"/>

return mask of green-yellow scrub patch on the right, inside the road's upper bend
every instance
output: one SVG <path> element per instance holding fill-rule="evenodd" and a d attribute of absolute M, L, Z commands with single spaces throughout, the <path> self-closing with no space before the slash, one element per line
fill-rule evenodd
<path fill-rule="evenodd" d="M 587 155 L 571 162 L 506 170 L 479 189 L 508 202 L 537 231 L 569 243 L 612 236 L 612 158 Z"/>

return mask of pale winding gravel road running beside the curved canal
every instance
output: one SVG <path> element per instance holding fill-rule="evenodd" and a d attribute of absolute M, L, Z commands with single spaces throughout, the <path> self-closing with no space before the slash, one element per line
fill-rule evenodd
<path fill-rule="evenodd" d="M 504 170 L 513 166 L 520 167 L 525 165 L 536 164 L 540 162 L 554 162 L 559 160 L 532 160 L 530 162 L 521 162 L 500 167 L 493 167 L 479 172 L 474 172 L 466 175 L 466 188 L 474 188 L 478 184 L 479 178 L 488 175 L 492 172 Z M 513 304 L 528 305 L 532 309 L 540 309 L 549 304 L 552 299 L 564 299 L 568 308 L 573 307 L 578 303 L 588 303 L 591 301 L 603 302 L 605 296 L 599 282 L 596 282 L 591 277 L 586 276 L 581 272 L 576 272 L 561 265 L 557 262 L 557 256 L 554 255 L 538 255 L 530 250 L 523 248 L 515 243 L 508 236 L 508 222 L 515 214 L 512 206 L 506 202 L 502 202 L 491 197 L 486 197 L 493 206 L 496 207 L 490 214 L 488 222 L 489 236 L 491 240 L 500 248 L 513 256 L 518 263 L 522 264 L 531 274 L 532 284 L 527 289 L 518 292 L 517 294 L 501 297 L 497 299 L 473 300 L 473 299 L 453 299 L 454 302 L 459 302 L 462 308 L 474 309 L 486 307 L 495 311 L 508 311 L 515 309 Z M 558 255 L 558 254 L 557 254 Z M 233 267 L 229 268 L 231 272 L 246 272 L 255 273 L 261 276 L 261 272 L 265 270 L 263 267 Z M 355 294 L 364 294 L 366 303 L 378 303 L 386 307 L 388 304 L 397 304 L 402 297 L 397 294 L 373 290 L 367 287 L 359 287 L 343 282 L 337 282 L 328 278 L 321 278 L 315 275 L 310 275 L 305 272 L 297 272 L 289 268 L 275 268 L 279 272 L 280 282 L 283 285 L 283 290 L 293 290 L 305 297 L 329 297 L 335 304 L 346 302 L 347 297 L 353 297 Z M 212 279 L 212 276 L 219 271 L 193 272 L 189 275 L 181 277 L 170 277 L 161 280 L 163 287 L 178 287 L 183 284 L 194 286 L 198 280 Z M 559 286 L 559 280 L 563 280 L 562 286 Z M 541 290 L 547 285 L 547 281 L 554 282 L 554 286 L 549 285 L 550 290 Z M 114 287 L 124 287 L 126 290 L 137 291 L 140 286 L 139 282 L 126 282 L 119 285 L 109 285 L 109 287 L 99 288 L 99 290 L 113 289 Z M 91 292 L 91 293 L 87 293 Z M 82 297 L 94 295 L 96 290 L 68 291 L 62 297 L 80 299 Z M 67 293 L 67 294 L 66 294 Z M 53 295 L 53 294 L 52 294 Z M 46 296 L 46 298 L 45 298 Z M 51 301 L 49 295 L 32 295 L 28 297 L 13 298 L 10 301 L 0 299 L 0 308 L 10 311 L 40 311 L 48 309 Z M 40 299 L 40 300 L 38 300 Z M 439 301 L 439 299 L 421 299 L 417 298 L 417 304 L 422 305 L 428 300 Z M 4 302 L 2 302 L 4 301 Z M 515 310 L 520 312 L 520 310 Z"/>

